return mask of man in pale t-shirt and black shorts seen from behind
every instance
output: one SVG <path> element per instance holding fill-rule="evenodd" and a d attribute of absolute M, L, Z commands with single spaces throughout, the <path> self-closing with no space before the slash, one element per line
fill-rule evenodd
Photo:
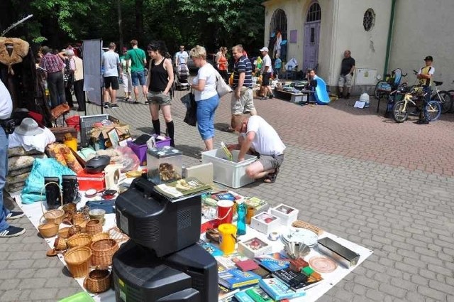
<path fill-rule="evenodd" d="M 118 83 L 118 70 L 121 70 L 120 56 L 115 52 L 114 42 L 109 44 L 109 50 L 102 54 L 102 65 L 104 66 L 104 108 L 118 108 L 116 103 L 116 91 L 120 89 Z M 111 103 L 109 103 L 109 95 Z"/>

